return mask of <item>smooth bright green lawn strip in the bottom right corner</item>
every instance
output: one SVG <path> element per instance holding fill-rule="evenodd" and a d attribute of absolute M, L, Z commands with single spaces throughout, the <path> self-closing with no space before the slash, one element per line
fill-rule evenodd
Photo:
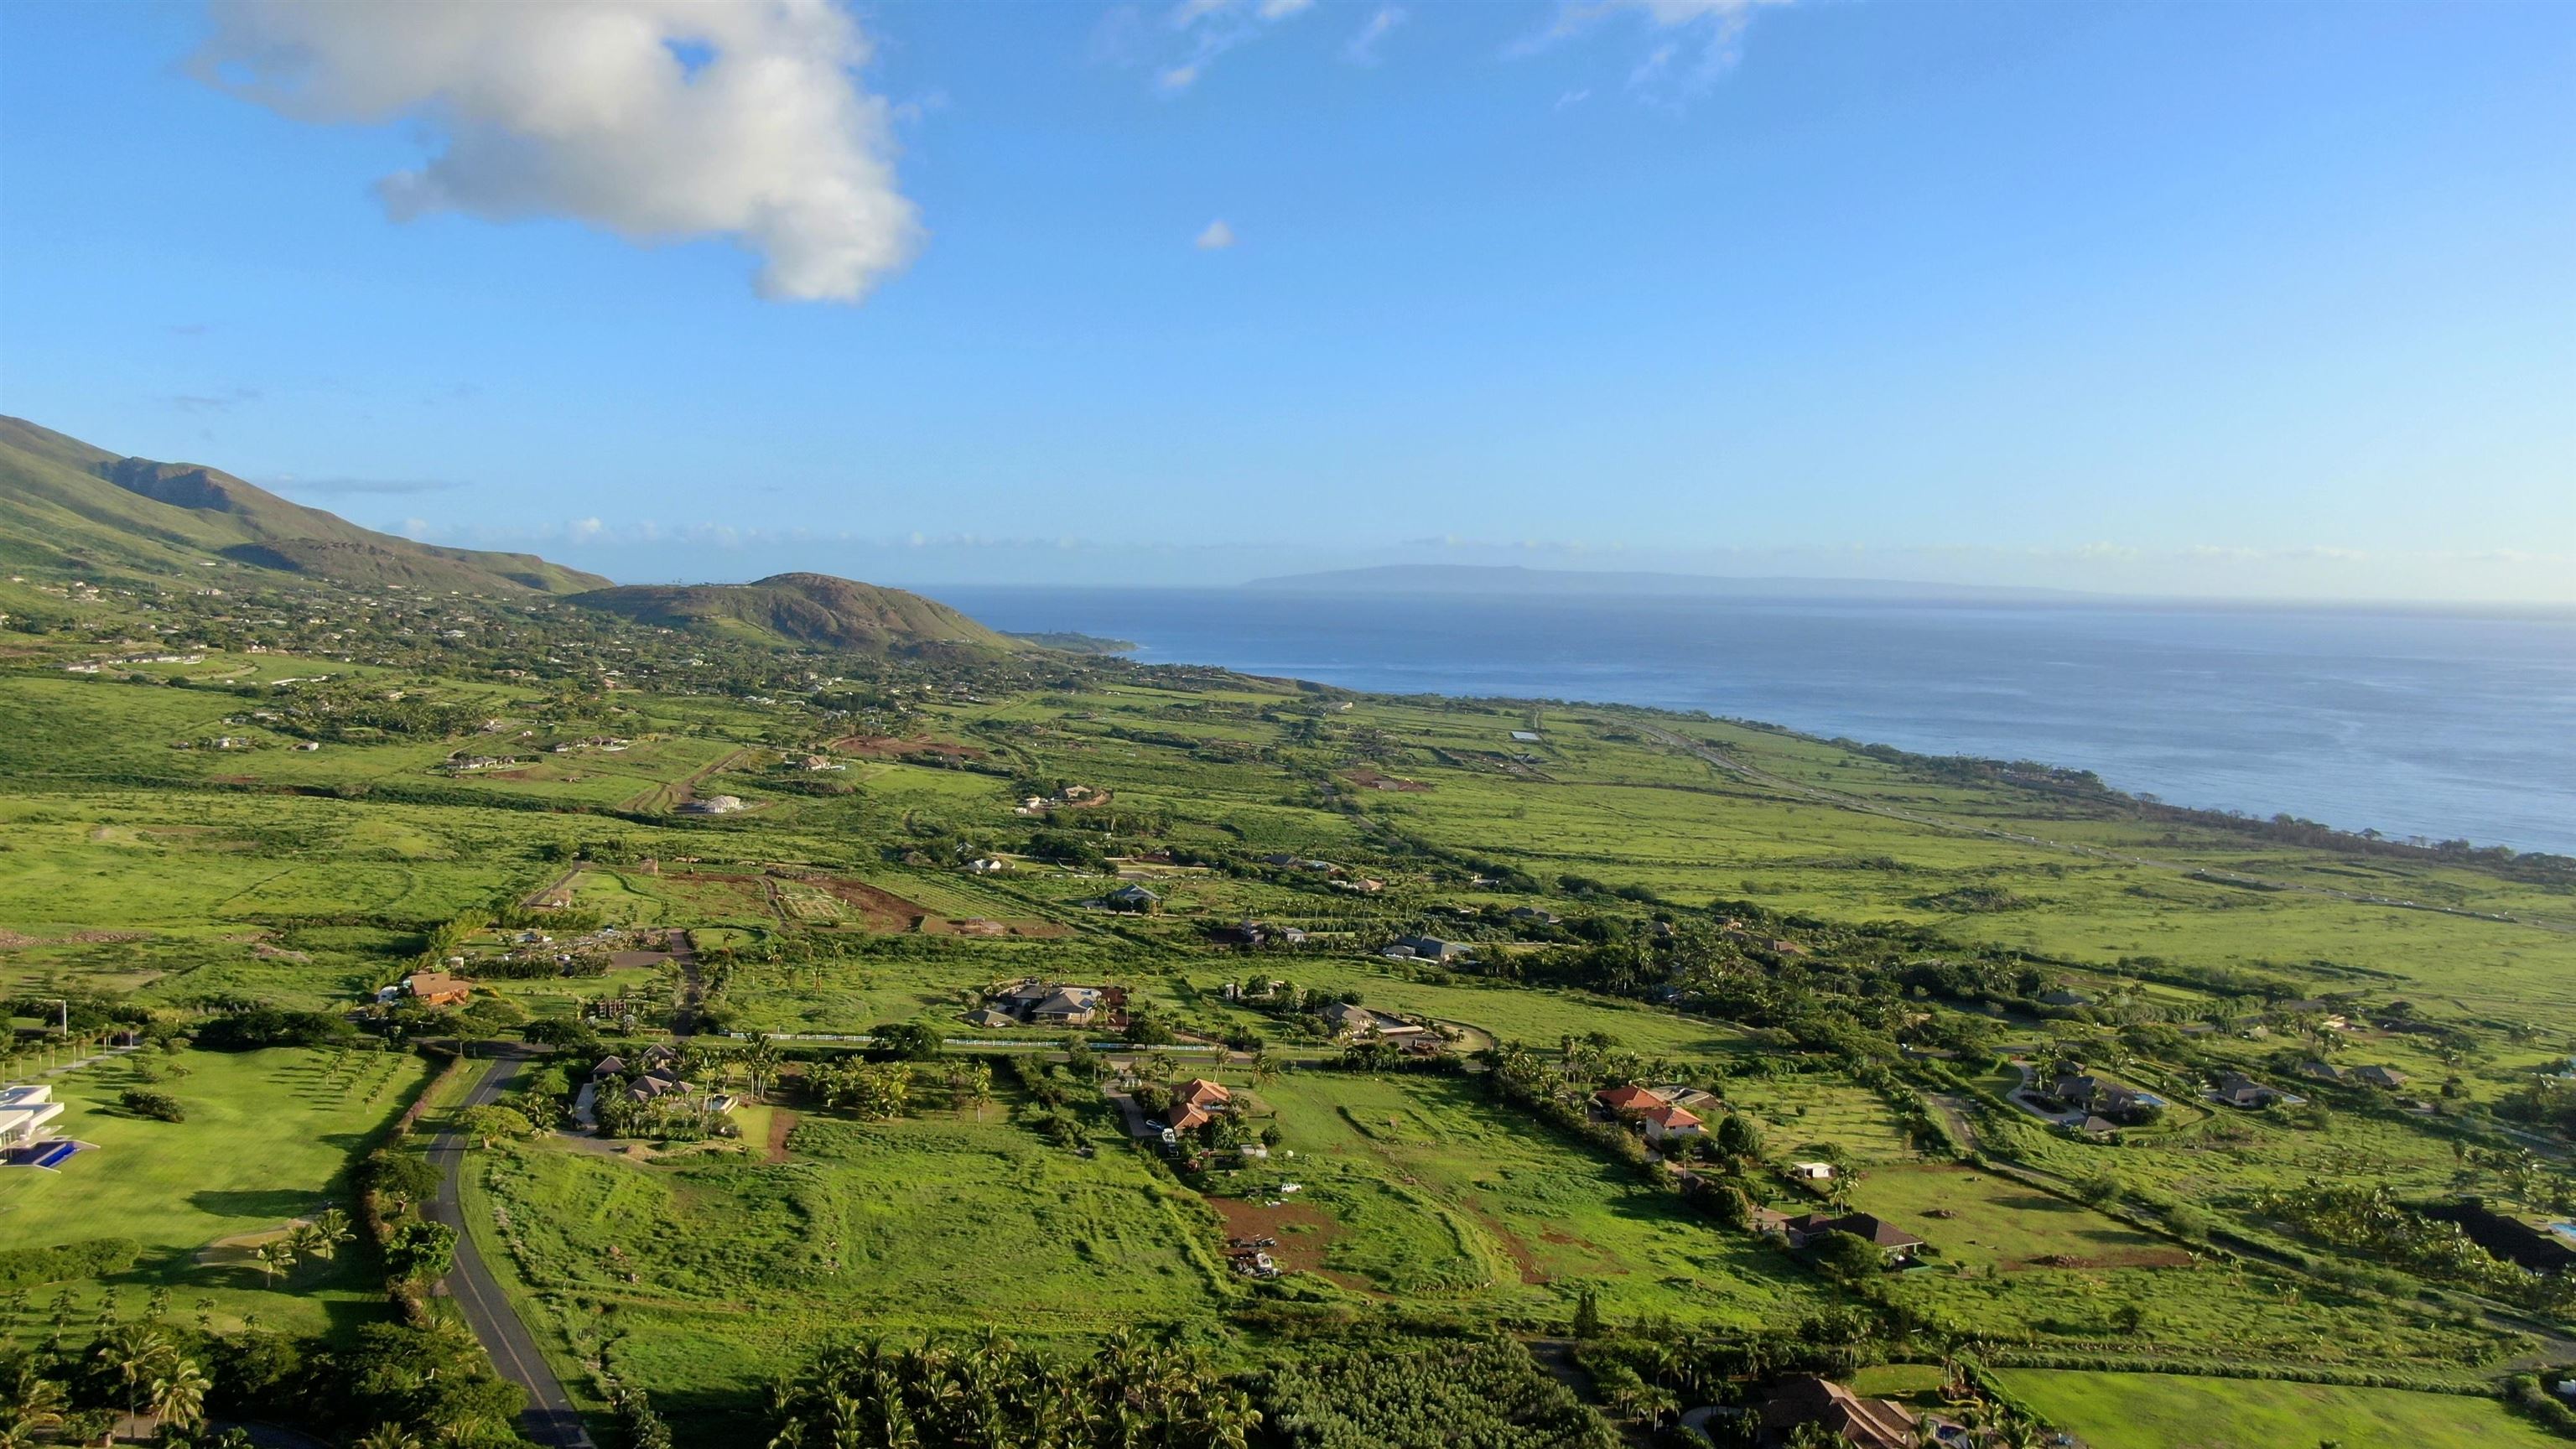
<path fill-rule="evenodd" d="M 2007 1390 L 2092 1449 L 2561 1449 L 2496 1400 L 2280 1379 L 2004 1369 Z"/>

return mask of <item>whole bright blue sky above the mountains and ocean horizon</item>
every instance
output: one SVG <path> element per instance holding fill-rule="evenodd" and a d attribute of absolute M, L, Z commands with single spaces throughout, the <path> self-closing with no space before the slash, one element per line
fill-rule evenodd
<path fill-rule="evenodd" d="M 404 10 L 0 8 L 0 410 L 626 580 L 2576 601 L 2576 5 Z"/>

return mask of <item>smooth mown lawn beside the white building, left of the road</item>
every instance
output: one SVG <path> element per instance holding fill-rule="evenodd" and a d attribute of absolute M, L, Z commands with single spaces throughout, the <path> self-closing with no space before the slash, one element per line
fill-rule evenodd
<path fill-rule="evenodd" d="M 0 1171 L 0 1243 L 134 1238 L 144 1258 L 111 1287 L 137 1307 L 167 1287 L 178 1318 L 193 1318 L 206 1297 L 219 1325 L 258 1312 L 263 1328 L 319 1333 L 371 1318 L 381 1294 L 363 1245 L 273 1287 L 247 1253 L 206 1248 L 322 1207 L 350 1212 L 343 1173 L 428 1080 L 428 1062 L 353 1052 L 335 1070 L 330 1055 L 301 1049 L 152 1057 L 188 1070 L 155 1083 L 185 1104 L 188 1119 L 155 1122 L 116 1106 L 137 1085 L 126 1062 L 49 1078 L 54 1098 L 70 1104 L 57 1127 L 100 1150 L 59 1173 Z M 46 1305 L 52 1292 L 36 1289 L 33 1302 Z M 88 1307 L 98 1292 L 82 1287 L 80 1302 Z"/>

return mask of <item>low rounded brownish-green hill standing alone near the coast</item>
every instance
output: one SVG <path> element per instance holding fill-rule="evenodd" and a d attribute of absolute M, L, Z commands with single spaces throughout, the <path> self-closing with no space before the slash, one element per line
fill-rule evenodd
<path fill-rule="evenodd" d="M 757 583 L 600 588 L 572 601 L 665 629 L 711 629 L 871 655 L 917 645 L 1023 647 L 933 598 L 824 572 L 781 572 Z"/>

